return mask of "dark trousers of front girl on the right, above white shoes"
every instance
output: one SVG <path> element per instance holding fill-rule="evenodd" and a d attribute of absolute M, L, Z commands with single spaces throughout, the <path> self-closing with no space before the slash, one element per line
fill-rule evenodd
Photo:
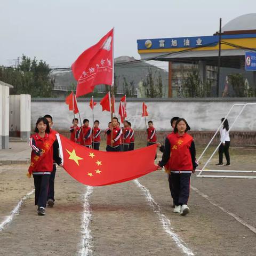
<path fill-rule="evenodd" d="M 171 173 L 175 205 L 188 204 L 191 173 Z"/>

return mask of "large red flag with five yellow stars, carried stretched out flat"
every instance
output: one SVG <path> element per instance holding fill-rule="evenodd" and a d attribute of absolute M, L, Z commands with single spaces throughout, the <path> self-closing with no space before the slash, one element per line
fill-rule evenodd
<path fill-rule="evenodd" d="M 86 148 L 57 134 L 63 168 L 77 181 L 104 186 L 133 180 L 156 171 L 156 145 L 126 152 Z"/>

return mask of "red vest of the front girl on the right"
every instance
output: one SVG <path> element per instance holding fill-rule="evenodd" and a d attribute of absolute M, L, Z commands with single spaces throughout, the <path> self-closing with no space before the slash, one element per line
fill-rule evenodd
<path fill-rule="evenodd" d="M 193 170 L 190 146 L 193 137 L 185 133 L 182 136 L 179 133 L 171 133 L 167 136 L 170 142 L 171 155 L 165 168 L 170 171 L 191 171 Z"/>

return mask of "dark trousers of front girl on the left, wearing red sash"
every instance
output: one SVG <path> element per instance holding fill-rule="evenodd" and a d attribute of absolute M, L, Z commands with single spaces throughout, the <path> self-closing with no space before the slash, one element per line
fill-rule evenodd
<path fill-rule="evenodd" d="M 46 207 L 50 174 L 33 174 L 35 185 L 35 205 Z"/>

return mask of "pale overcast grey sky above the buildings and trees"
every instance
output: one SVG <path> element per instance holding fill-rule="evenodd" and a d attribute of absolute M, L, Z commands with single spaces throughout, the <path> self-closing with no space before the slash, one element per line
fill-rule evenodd
<path fill-rule="evenodd" d="M 115 57 L 140 58 L 137 39 L 212 35 L 255 0 L 0 0 L 0 65 L 22 53 L 70 67 L 115 27 Z"/>

